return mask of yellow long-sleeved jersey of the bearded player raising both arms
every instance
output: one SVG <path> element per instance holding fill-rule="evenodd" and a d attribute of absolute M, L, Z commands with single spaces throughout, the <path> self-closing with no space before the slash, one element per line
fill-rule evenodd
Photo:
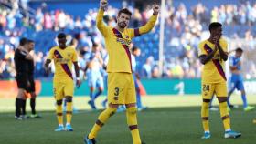
<path fill-rule="evenodd" d="M 103 10 L 99 10 L 97 15 L 97 27 L 105 38 L 106 49 L 109 54 L 107 72 L 126 72 L 132 73 L 131 52 L 129 45 L 134 36 L 148 33 L 154 26 L 157 15 L 151 16 L 145 26 L 137 29 L 125 28 L 123 32 L 118 31 L 112 26 L 103 24 Z"/>

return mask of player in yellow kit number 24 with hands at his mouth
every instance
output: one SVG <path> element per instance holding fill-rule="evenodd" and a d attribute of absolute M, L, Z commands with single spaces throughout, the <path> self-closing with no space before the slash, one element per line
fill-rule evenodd
<path fill-rule="evenodd" d="M 219 100 L 219 111 L 225 129 L 225 138 L 238 138 L 239 132 L 230 128 L 230 118 L 227 105 L 227 82 L 223 70 L 225 61 L 228 59 L 227 41 L 222 36 L 222 25 L 213 22 L 209 25 L 210 37 L 199 44 L 199 58 L 204 65 L 202 72 L 202 98 L 203 104 L 201 117 L 205 130 L 202 139 L 209 139 L 208 106 L 213 93 Z"/>

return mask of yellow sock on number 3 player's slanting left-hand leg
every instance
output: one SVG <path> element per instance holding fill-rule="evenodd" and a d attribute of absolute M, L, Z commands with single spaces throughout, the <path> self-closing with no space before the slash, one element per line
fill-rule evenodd
<path fill-rule="evenodd" d="M 98 132 L 101 130 L 103 125 L 107 122 L 107 120 L 116 112 L 116 108 L 106 108 L 103 112 L 101 112 L 99 118 L 94 124 L 91 132 L 89 133 L 88 138 L 93 139 L 97 137 Z"/>

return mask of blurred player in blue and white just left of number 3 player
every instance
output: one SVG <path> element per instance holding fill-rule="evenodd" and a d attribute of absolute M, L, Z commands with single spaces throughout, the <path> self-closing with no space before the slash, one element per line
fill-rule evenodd
<path fill-rule="evenodd" d="M 91 56 L 89 57 L 89 62 L 87 63 L 88 68 L 86 68 L 88 69 L 88 86 L 90 87 L 91 98 L 88 104 L 92 109 L 96 109 L 95 99 L 98 98 L 104 90 L 103 76 L 101 74 L 102 65 L 103 59 L 101 58 L 99 46 L 94 43 L 92 46 Z M 98 89 L 98 91 L 95 92 L 95 89 Z"/>

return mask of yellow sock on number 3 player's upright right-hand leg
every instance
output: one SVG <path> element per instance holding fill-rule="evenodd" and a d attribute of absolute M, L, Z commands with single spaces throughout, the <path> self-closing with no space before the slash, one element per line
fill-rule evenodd
<path fill-rule="evenodd" d="M 127 124 L 132 133 L 133 144 L 141 144 L 142 142 L 141 142 L 140 132 L 138 129 L 138 122 L 137 122 L 137 108 L 135 107 L 126 108 L 126 117 L 127 117 Z"/>

